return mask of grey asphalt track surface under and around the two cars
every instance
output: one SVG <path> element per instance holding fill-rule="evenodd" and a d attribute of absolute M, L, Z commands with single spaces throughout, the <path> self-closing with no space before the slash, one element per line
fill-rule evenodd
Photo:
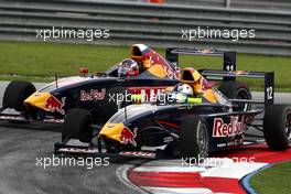
<path fill-rule="evenodd" d="M 0 83 L 0 98 L 6 85 Z M 276 97 L 277 103 L 291 103 L 291 95 Z M 61 140 L 61 130 L 60 125 L 0 122 L 0 193 L 138 193 L 122 184 L 116 170 L 123 164 L 140 165 L 147 162 L 143 160 L 116 158 L 107 166 L 94 165 L 93 169 L 87 169 L 90 165 L 50 165 L 44 169 L 36 164 L 36 158 L 53 158 L 53 144 Z"/>

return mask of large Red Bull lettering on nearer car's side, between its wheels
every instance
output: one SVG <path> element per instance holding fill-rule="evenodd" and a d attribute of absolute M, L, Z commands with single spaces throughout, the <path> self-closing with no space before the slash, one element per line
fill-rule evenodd
<path fill-rule="evenodd" d="M 231 116 L 230 122 L 225 123 L 222 118 L 215 118 L 213 123 L 213 137 L 214 138 L 224 138 L 224 137 L 234 137 L 236 134 L 241 134 L 244 132 L 244 119 L 239 121 L 239 117 Z"/>

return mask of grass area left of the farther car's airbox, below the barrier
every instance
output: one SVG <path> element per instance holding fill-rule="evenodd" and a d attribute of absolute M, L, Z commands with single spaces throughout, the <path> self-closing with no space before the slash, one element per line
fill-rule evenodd
<path fill-rule="evenodd" d="M 0 42 L 0 75 L 76 75 L 82 66 L 88 66 L 91 72 L 105 71 L 129 52 L 129 47 Z"/>

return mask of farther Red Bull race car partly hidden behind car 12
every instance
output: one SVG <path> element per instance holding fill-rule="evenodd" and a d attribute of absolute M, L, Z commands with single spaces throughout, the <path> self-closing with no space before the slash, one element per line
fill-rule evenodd
<path fill-rule="evenodd" d="M 95 118 L 107 120 L 121 106 L 118 94 L 160 93 L 175 85 L 180 75 L 176 65 L 143 44 L 132 45 L 131 57 L 105 73 L 80 72 L 82 76 L 56 78 L 39 90 L 28 82 L 11 82 L 4 91 L 0 120 L 62 122 L 72 108 L 89 110 Z"/>

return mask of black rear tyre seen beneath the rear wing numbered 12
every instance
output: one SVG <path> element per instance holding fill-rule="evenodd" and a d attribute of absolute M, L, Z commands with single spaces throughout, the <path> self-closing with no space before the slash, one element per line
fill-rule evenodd
<path fill-rule="evenodd" d="M 218 90 L 223 93 L 227 98 L 229 99 L 251 99 L 251 94 L 249 91 L 249 88 L 247 84 L 239 83 L 236 80 L 228 80 L 223 82 Z M 246 103 L 236 103 L 238 105 L 238 108 L 234 108 L 234 110 L 250 110 L 250 105 Z"/>

